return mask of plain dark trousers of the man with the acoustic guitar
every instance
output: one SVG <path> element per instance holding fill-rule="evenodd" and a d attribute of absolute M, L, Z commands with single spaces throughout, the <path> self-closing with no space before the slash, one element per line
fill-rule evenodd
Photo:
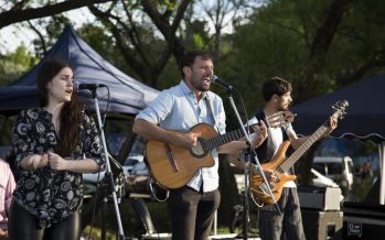
<path fill-rule="evenodd" d="M 190 187 L 171 190 L 168 206 L 173 240 L 206 240 L 214 212 L 220 207 L 221 194 L 196 192 Z"/>

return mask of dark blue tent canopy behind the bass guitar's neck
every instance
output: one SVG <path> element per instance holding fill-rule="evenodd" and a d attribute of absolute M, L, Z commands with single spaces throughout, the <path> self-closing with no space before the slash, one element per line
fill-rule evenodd
<path fill-rule="evenodd" d="M 346 116 L 332 132 L 334 138 L 385 140 L 385 75 L 376 75 L 343 89 L 310 99 L 295 106 L 297 113 L 293 127 L 297 133 L 311 134 L 333 113 L 331 108 L 339 100 L 346 99 Z"/>

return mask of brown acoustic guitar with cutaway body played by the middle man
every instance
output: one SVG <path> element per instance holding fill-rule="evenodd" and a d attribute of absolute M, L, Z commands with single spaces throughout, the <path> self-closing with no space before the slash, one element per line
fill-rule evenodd
<path fill-rule="evenodd" d="M 270 127 L 280 126 L 285 122 L 284 112 L 278 112 L 266 118 Z M 254 127 L 249 126 L 249 131 Z M 188 150 L 179 145 L 160 141 L 149 140 L 147 142 L 147 164 L 157 184 L 167 189 L 175 189 L 186 185 L 201 167 L 214 165 L 211 151 L 220 145 L 244 137 L 243 131 L 236 130 L 226 134 L 217 134 L 215 129 L 206 123 L 194 126 L 190 132 L 201 133 L 194 148 Z"/>

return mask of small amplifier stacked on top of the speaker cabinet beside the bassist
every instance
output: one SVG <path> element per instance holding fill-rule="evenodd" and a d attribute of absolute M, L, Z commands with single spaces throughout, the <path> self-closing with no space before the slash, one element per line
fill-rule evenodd
<path fill-rule="evenodd" d="M 340 210 L 341 189 L 339 187 L 299 187 L 301 208 L 318 210 Z"/>

